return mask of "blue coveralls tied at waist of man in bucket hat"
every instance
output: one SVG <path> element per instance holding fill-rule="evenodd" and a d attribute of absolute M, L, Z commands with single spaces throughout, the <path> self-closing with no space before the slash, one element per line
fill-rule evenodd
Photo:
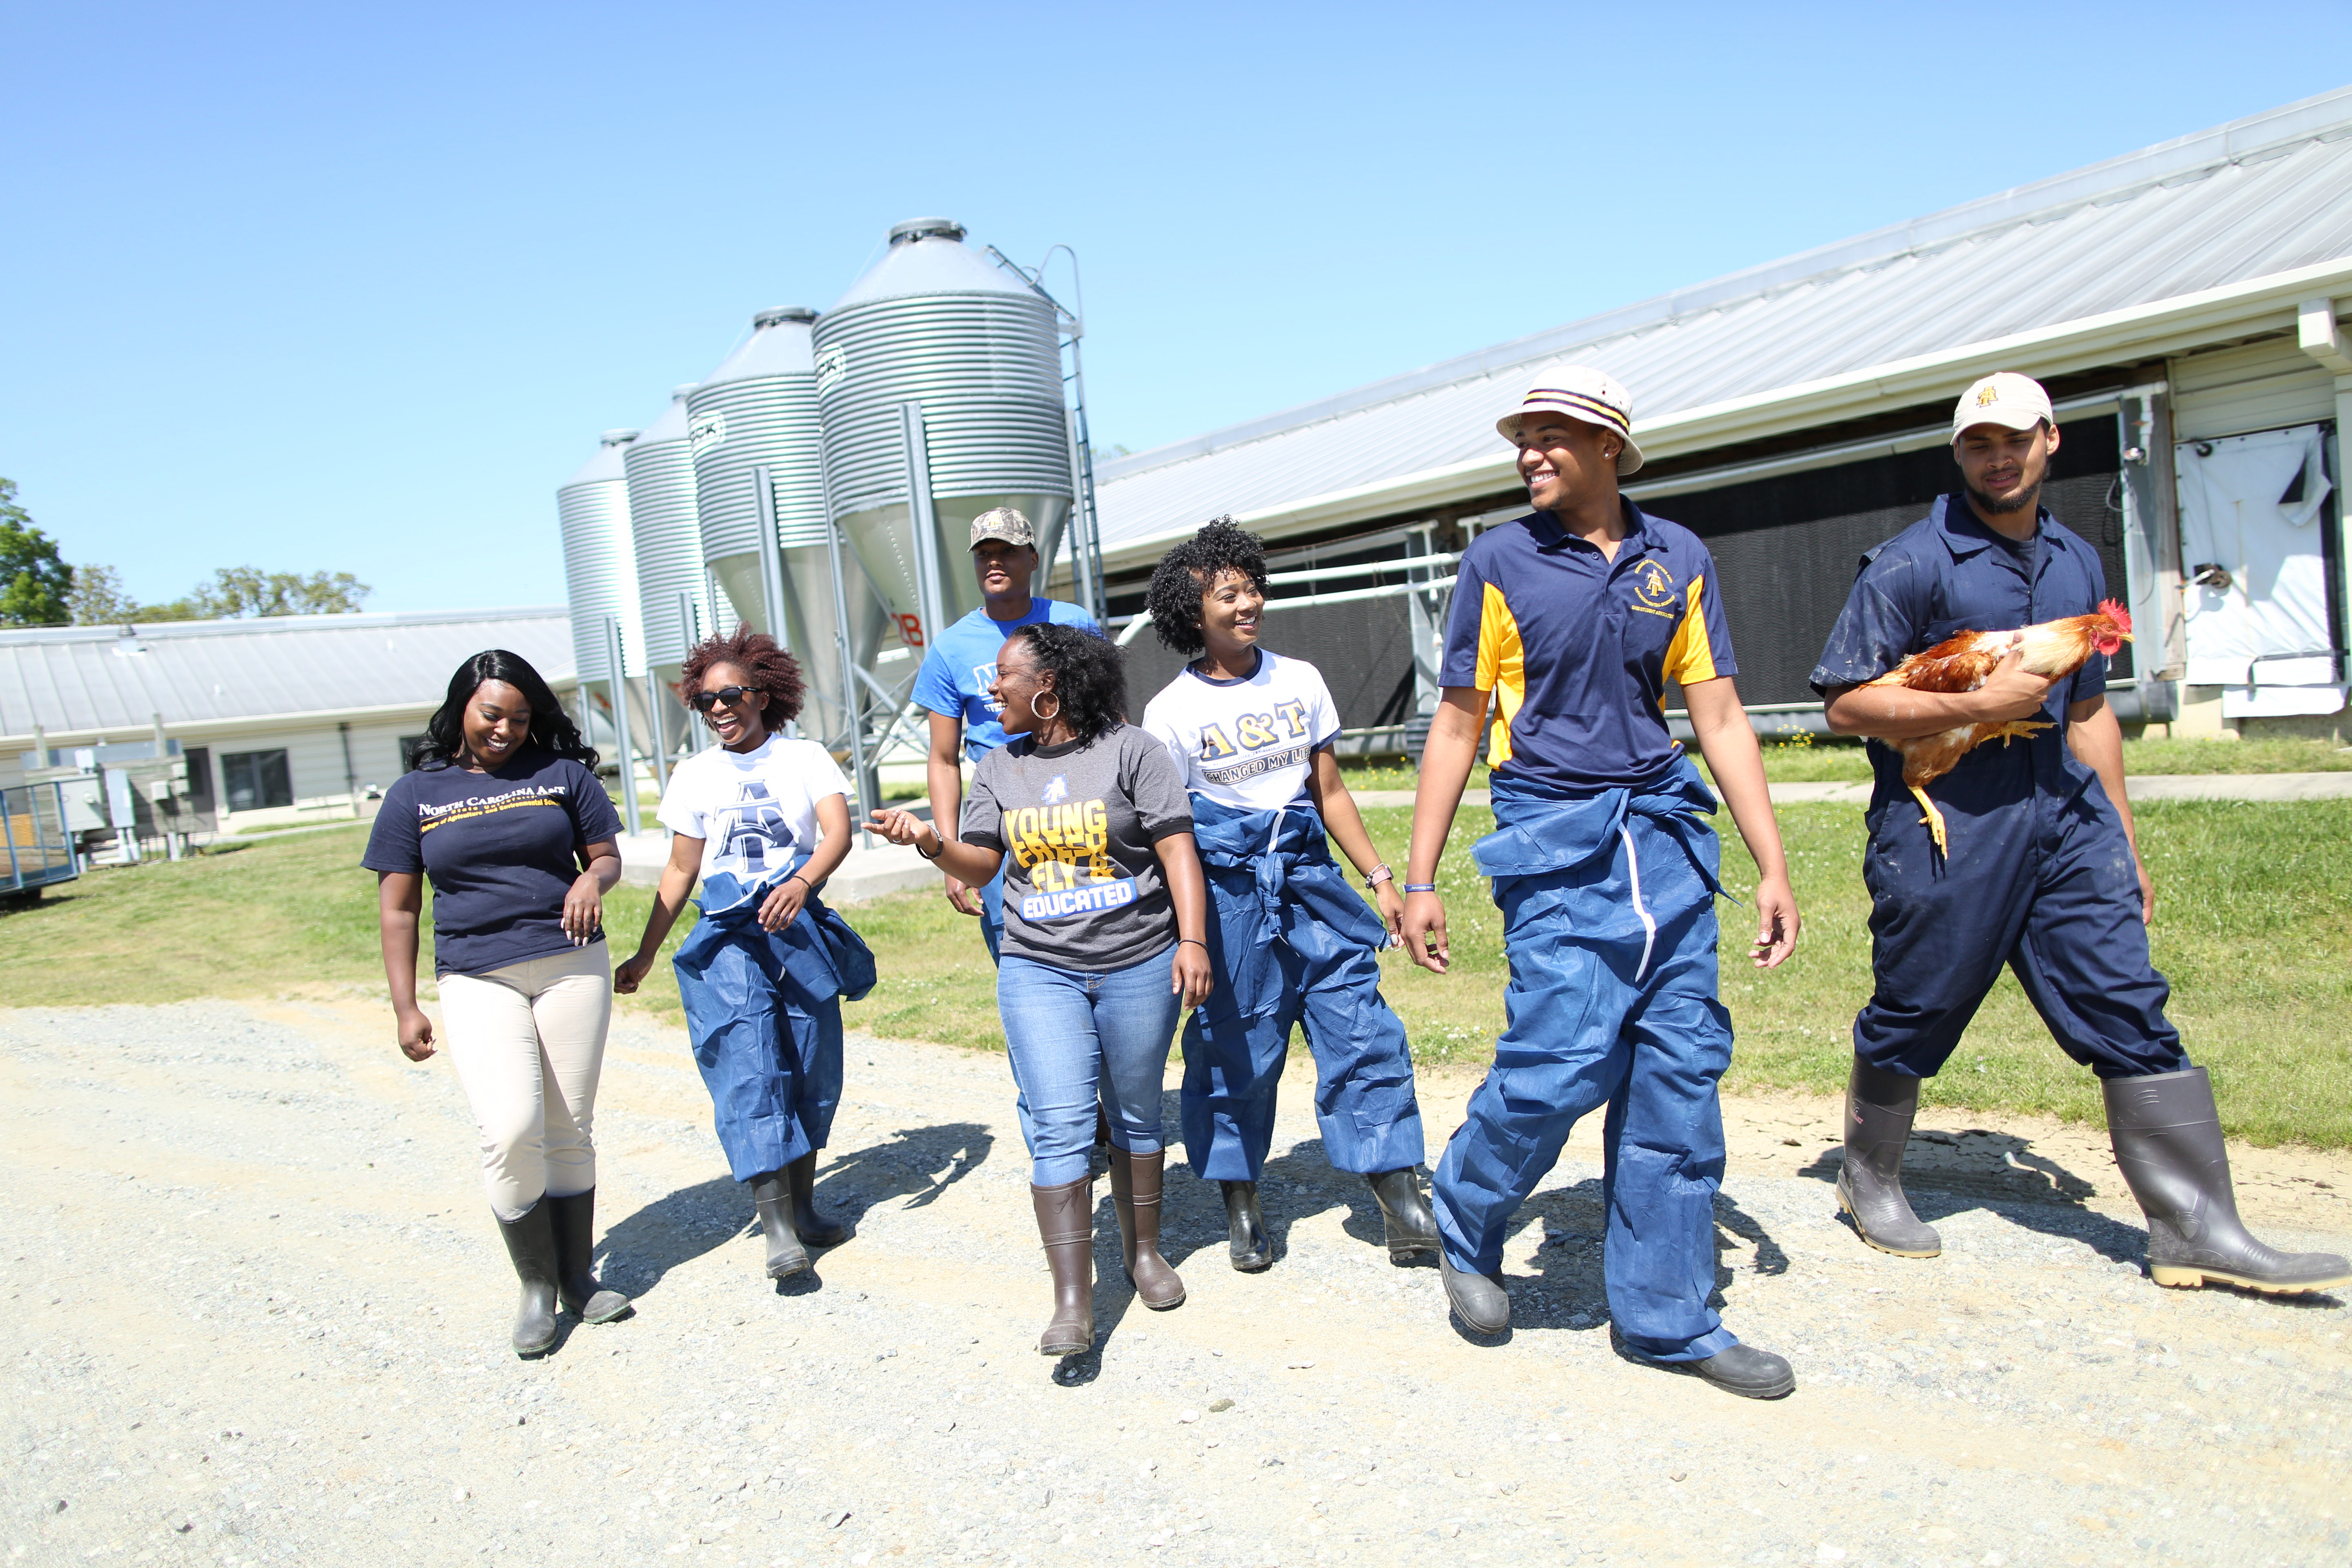
<path fill-rule="evenodd" d="M 1491 1274 L 1569 1131 L 1606 1105 L 1609 1314 L 1661 1361 L 1738 1342 L 1708 1305 L 1724 1175 L 1717 1084 L 1731 1065 L 1712 811 L 1689 757 L 1613 790 L 1494 776 L 1496 832 L 1470 853 L 1503 910 L 1508 1025 L 1432 1182 L 1446 1255 Z"/>

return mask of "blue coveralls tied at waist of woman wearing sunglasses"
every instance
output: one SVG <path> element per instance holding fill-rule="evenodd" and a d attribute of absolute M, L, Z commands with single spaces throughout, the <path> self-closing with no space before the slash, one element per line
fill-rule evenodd
<path fill-rule="evenodd" d="M 694 1065 L 739 1182 L 826 1147 L 842 1098 L 842 997 L 875 985 L 866 940 L 816 893 L 783 931 L 760 929 L 779 882 L 710 877 L 675 959 Z"/>

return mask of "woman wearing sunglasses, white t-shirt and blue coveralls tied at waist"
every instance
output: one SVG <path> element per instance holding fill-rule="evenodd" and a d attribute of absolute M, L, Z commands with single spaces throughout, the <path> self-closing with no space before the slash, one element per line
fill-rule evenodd
<path fill-rule="evenodd" d="M 701 879 L 701 919 L 673 959 L 677 999 L 727 1166 L 750 1182 L 767 1276 L 786 1279 L 809 1267 L 809 1246 L 849 1237 L 816 1213 L 816 1152 L 842 1098 L 842 997 L 875 983 L 866 943 L 816 898 L 849 853 L 849 783 L 826 748 L 776 733 L 800 715 L 802 684 L 767 632 L 696 644 L 677 686 L 720 745 L 670 773 L 670 863 L 612 985 L 637 990 Z"/>

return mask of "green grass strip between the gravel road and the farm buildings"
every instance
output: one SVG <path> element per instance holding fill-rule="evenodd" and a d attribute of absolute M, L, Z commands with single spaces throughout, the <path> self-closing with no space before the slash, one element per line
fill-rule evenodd
<path fill-rule="evenodd" d="M 1409 811 L 1367 811 L 1376 844 L 1402 860 Z M 1860 809 L 1783 806 L 1804 940 L 1797 957 L 1757 973 L 1745 957 L 1748 912 L 1724 907 L 1724 1001 L 1738 1027 L 1726 1088 L 1839 1093 L 1853 1011 L 1870 994 L 1860 882 Z M 1479 1065 L 1503 1023 L 1501 917 L 1470 865 L 1489 816 L 1465 809 L 1439 867 L 1454 973 L 1430 976 L 1392 952 L 1385 992 L 1423 1063 Z M 2197 1063 L 2213 1070 L 2230 1131 L 2256 1143 L 2352 1147 L 2352 865 L 2347 802 L 2150 802 L 2140 844 L 2157 877 L 2157 966 L 2173 983 L 2171 1016 Z M 0 914 L 0 1006 L 186 1001 L 195 997 L 383 994 L 374 875 L 360 870 L 365 830 L 292 835 L 176 865 L 99 870 Z M 1748 896 L 1752 867 L 1736 844 L 1726 882 Z M 635 947 L 649 889 L 621 886 L 604 924 L 616 952 Z M 1000 1048 L 995 969 L 978 922 L 924 889 L 849 910 L 882 980 L 847 1009 L 851 1027 L 901 1039 Z M 691 926 L 691 910 L 668 950 Z M 426 952 L 430 966 L 430 943 Z M 623 1006 L 677 1018 L 677 983 L 656 964 Z M 1959 1053 L 1926 1088 L 1929 1105 L 2098 1119 L 2098 1084 L 2042 1030 L 2004 976 Z"/>

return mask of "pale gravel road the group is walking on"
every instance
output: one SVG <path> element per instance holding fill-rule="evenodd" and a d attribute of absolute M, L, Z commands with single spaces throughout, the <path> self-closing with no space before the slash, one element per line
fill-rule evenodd
<path fill-rule="evenodd" d="M 1287 1107 L 1272 1272 L 1171 1168 L 1190 1300 L 1148 1314 L 1105 1190 L 1101 1345 L 1054 1363 L 1000 1056 L 851 1039 L 821 1204 L 856 1237 L 779 1291 L 682 1034 L 621 1020 L 637 1316 L 524 1363 L 456 1079 L 381 1009 L 0 1013 L 0 1084 L 7 1561 L 2352 1561 L 2352 1312 L 2147 1284 L 2079 1128 L 1931 1128 L 1947 1251 L 1905 1262 L 1835 1220 L 1835 1107 L 1726 1105 L 1726 1314 L 1799 1378 L 1750 1403 L 1611 1356 L 1597 1126 L 1519 1215 L 1503 1345 Z M 1470 1086 L 1423 1084 L 1437 1133 Z M 2274 1241 L 2352 1244 L 2352 1161 L 2239 1159 Z"/>

